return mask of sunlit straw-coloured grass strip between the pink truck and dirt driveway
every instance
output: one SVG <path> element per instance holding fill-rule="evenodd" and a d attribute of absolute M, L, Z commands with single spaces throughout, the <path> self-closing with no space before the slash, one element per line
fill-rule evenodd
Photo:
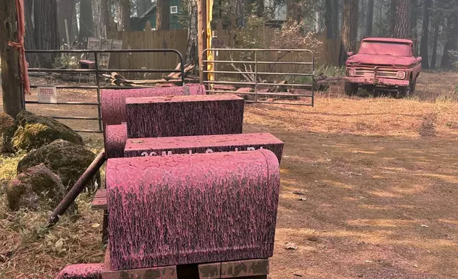
<path fill-rule="evenodd" d="M 437 137 L 457 136 L 457 102 L 420 102 L 391 98 L 317 98 L 316 106 L 250 105 L 247 123 L 283 127 L 291 132 L 417 137 L 427 115 Z"/>

